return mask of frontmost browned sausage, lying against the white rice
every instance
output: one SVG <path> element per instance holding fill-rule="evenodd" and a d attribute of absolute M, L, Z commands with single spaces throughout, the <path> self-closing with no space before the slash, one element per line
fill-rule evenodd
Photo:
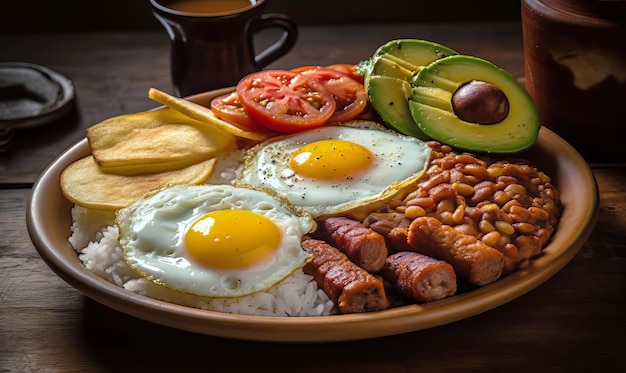
<path fill-rule="evenodd" d="M 303 271 L 315 278 L 318 286 L 341 313 L 378 311 L 389 307 L 383 283 L 324 241 L 305 238 L 302 248 L 313 254 Z"/>

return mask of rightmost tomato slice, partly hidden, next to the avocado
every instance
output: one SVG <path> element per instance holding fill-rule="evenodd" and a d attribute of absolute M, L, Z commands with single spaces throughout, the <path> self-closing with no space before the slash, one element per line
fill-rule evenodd
<path fill-rule="evenodd" d="M 336 108 L 330 122 L 345 122 L 357 118 L 367 106 L 367 92 L 363 84 L 348 75 L 326 67 L 302 71 L 322 83 L 335 99 Z"/>

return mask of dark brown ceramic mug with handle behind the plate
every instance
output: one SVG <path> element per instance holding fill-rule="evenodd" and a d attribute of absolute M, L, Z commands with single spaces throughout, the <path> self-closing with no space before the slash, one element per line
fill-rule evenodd
<path fill-rule="evenodd" d="M 262 14 L 266 0 L 245 1 L 239 8 L 234 6 L 237 1 L 186 3 L 187 6 L 207 5 L 212 9 L 181 8 L 180 0 L 150 0 L 152 13 L 170 38 L 175 95 L 189 96 L 236 85 L 243 76 L 285 55 L 296 43 L 296 23 L 285 14 Z M 218 9 L 220 5 L 235 9 Z M 280 29 L 282 35 L 257 53 L 254 36 L 268 28 Z"/>

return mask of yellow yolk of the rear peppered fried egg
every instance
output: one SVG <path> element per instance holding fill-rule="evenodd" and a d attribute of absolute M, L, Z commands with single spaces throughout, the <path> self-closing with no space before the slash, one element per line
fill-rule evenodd
<path fill-rule="evenodd" d="M 339 179 L 365 170 L 374 161 L 367 148 L 345 140 L 320 140 L 295 151 L 289 167 L 299 175 L 315 179 Z"/>

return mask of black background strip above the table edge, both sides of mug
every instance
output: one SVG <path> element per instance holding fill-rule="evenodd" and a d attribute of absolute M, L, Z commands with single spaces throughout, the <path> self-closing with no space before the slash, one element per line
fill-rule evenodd
<path fill-rule="evenodd" d="M 268 0 L 299 24 L 478 22 L 520 19 L 518 0 Z M 152 30 L 148 0 L 3 1 L 0 33 Z"/>

